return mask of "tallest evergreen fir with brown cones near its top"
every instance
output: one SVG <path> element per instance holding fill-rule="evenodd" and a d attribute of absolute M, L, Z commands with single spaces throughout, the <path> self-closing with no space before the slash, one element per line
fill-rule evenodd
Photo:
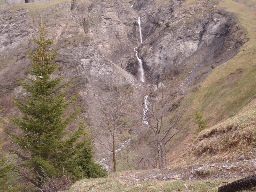
<path fill-rule="evenodd" d="M 68 174 L 74 176 L 79 168 L 74 167 L 72 159 L 77 149 L 76 141 L 84 130 L 84 124 L 78 130 L 70 133 L 68 124 L 77 116 L 79 108 L 65 116 L 70 104 L 76 96 L 67 99 L 68 82 L 63 83 L 63 77 L 54 77 L 58 68 L 54 62 L 58 52 L 54 52 L 52 39 L 45 39 L 45 27 L 41 21 L 39 38 L 33 38 L 37 48 L 28 52 L 31 60 L 29 76 L 20 85 L 27 91 L 23 99 L 14 99 L 13 103 L 20 110 L 21 117 L 11 119 L 18 126 L 20 135 L 7 132 L 17 144 L 14 151 L 22 160 L 20 166 L 27 172 L 20 173 L 26 180 L 42 188 L 42 178 L 45 173 L 49 178 Z"/>

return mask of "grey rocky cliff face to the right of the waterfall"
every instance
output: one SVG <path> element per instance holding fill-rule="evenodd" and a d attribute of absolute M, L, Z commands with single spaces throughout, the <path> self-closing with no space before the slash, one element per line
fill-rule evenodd
<path fill-rule="evenodd" d="M 200 79 L 202 71 L 234 57 L 247 41 L 236 16 L 217 9 L 213 1 L 133 3 L 143 23 L 146 40 L 139 55 L 149 77 L 174 69 L 190 72 L 186 83 Z"/>

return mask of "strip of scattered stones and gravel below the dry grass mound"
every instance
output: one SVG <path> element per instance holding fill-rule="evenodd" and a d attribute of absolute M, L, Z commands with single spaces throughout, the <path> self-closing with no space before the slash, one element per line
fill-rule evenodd
<path fill-rule="evenodd" d="M 239 159 L 239 158 L 238 158 Z M 132 171 L 118 175 L 118 179 L 128 183 L 150 180 L 204 180 L 239 179 L 256 173 L 256 159 L 244 159 L 218 163 L 193 164 L 187 168 L 164 168 L 149 171 Z"/>

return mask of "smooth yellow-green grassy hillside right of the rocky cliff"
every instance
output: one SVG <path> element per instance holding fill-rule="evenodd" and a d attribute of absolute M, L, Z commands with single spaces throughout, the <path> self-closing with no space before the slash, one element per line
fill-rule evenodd
<path fill-rule="evenodd" d="M 211 124 L 238 114 L 256 94 L 256 12 L 233 0 L 224 0 L 219 7 L 238 15 L 239 25 L 249 41 L 233 59 L 216 67 L 189 97 L 191 113 L 199 109 Z"/>

